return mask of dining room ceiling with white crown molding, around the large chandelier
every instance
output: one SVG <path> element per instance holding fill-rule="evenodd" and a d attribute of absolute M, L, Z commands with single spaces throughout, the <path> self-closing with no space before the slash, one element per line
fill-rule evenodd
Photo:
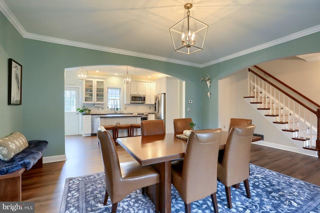
<path fill-rule="evenodd" d="M 187 2 L 209 25 L 190 55 L 174 51 L 169 33 Z M 25 38 L 195 67 L 320 31 L 319 0 L 0 0 L 0 10 Z"/>

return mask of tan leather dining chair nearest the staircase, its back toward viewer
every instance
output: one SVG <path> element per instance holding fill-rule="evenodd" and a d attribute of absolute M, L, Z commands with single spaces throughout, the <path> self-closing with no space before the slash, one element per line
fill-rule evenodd
<path fill-rule="evenodd" d="M 217 179 L 224 184 L 228 208 L 232 207 L 231 185 L 243 181 L 246 196 L 251 198 L 248 178 L 254 128 L 255 125 L 232 127 L 226 139 L 222 161 L 217 164 Z"/>

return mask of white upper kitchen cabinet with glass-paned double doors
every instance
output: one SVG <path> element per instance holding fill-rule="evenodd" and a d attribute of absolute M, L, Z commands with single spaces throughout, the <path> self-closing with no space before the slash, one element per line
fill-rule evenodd
<path fill-rule="evenodd" d="M 103 103 L 104 90 L 104 80 L 86 79 L 83 82 L 83 103 Z"/>

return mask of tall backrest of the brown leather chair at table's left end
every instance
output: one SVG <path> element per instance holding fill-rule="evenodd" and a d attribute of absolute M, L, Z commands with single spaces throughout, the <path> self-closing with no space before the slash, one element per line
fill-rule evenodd
<path fill-rule="evenodd" d="M 122 180 L 119 158 L 110 132 L 105 130 L 103 126 L 99 126 L 97 137 L 104 165 L 106 190 L 112 200 L 113 194 L 116 193 L 115 187 Z"/>

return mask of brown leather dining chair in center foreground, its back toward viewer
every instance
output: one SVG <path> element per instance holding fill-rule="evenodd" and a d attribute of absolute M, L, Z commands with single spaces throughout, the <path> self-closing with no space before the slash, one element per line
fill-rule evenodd
<path fill-rule="evenodd" d="M 171 162 L 171 182 L 184 201 L 185 212 L 191 212 L 191 202 L 211 195 L 214 212 L 216 172 L 221 129 L 192 131 L 186 144 L 184 159 Z"/>

